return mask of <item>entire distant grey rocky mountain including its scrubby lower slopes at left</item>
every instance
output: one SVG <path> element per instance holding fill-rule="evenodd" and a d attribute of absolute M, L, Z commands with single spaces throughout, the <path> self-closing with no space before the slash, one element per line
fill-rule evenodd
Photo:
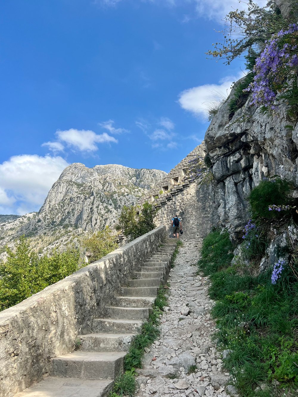
<path fill-rule="evenodd" d="M 113 227 L 122 206 L 135 204 L 165 175 L 116 164 L 93 168 L 71 164 L 54 183 L 39 212 L 15 220 L 13 216 L 0 218 L 0 251 L 22 234 L 42 250 L 65 245 L 85 231 Z"/>

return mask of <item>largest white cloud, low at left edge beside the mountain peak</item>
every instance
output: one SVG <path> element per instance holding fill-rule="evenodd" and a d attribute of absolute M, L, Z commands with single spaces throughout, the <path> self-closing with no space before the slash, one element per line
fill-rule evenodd
<path fill-rule="evenodd" d="M 0 164 L 0 210 L 36 211 L 68 163 L 60 156 L 22 154 Z"/>

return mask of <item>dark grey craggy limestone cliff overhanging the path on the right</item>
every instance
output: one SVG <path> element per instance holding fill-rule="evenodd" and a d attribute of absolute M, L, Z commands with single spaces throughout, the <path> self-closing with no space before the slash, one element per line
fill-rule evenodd
<path fill-rule="evenodd" d="M 211 121 L 205 146 L 213 163 L 215 215 L 240 234 L 249 216 L 246 198 L 263 177 L 280 175 L 298 185 L 298 127 L 286 119 L 286 108 L 279 117 L 267 116 L 249 105 L 250 98 L 231 118 L 232 96 Z"/>

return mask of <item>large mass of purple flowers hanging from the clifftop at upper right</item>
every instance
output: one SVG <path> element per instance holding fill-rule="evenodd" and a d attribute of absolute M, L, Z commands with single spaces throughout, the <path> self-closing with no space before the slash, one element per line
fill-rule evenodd
<path fill-rule="evenodd" d="M 280 103 L 286 100 L 285 96 L 278 94 L 291 89 L 291 79 L 296 81 L 297 32 L 298 25 L 293 23 L 266 41 L 265 49 L 255 62 L 253 81 L 245 90 L 252 92 L 251 104 L 273 111 L 277 108 L 277 100 Z"/>

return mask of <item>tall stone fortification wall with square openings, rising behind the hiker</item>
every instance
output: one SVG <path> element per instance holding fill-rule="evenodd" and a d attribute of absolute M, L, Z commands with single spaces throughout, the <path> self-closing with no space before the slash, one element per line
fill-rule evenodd
<path fill-rule="evenodd" d="M 190 161 L 197 156 L 205 156 L 202 143 L 176 165 L 149 193 L 139 202 L 148 201 L 157 209 L 155 223 L 166 225 L 171 234 L 170 221 L 176 214 L 182 219 L 184 237 L 195 239 L 205 237 L 213 222 L 213 190 L 210 185 L 198 185 L 190 176 Z"/>

